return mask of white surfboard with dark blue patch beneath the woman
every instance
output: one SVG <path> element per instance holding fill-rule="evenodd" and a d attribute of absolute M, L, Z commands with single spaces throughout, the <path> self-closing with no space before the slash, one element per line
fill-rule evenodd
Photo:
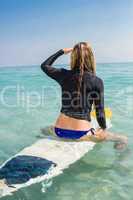
<path fill-rule="evenodd" d="M 111 111 L 106 111 L 107 127 L 111 127 Z M 95 113 L 92 124 L 97 128 Z M 0 167 L 0 197 L 12 195 L 22 187 L 51 179 L 63 172 L 88 151 L 95 143 L 64 141 L 47 135 L 35 144 L 24 148 Z"/>

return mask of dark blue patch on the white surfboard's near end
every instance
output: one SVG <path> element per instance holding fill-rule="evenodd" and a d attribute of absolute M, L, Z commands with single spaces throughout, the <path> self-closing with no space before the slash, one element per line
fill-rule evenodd
<path fill-rule="evenodd" d="M 51 166 L 56 166 L 56 164 L 44 158 L 27 155 L 17 156 L 0 169 L 0 179 L 1 181 L 5 179 L 8 186 L 22 184 L 31 178 L 47 174 Z"/>

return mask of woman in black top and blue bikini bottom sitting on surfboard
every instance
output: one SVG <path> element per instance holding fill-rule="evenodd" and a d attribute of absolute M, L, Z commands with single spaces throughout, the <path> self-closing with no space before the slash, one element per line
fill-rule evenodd
<path fill-rule="evenodd" d="M 56 69 L 53 62 L 63 54 L 71 53 L 71 69 Z M 125 136 L 115 136 L 106 130 L 104 113 L 104 85 L 96 76 L 95 59 L 91 46 L 80 42 L 74 48 L 57 51 L 41 64 L 41 69 L 56 80 L 62 89 L 62 107 L 54 125 L 58 137 L 89 141 L 115 141 L 117 147 L 127 143 Z M 99 129 L 91 126 L 90 112 L 96 109 Z"/>

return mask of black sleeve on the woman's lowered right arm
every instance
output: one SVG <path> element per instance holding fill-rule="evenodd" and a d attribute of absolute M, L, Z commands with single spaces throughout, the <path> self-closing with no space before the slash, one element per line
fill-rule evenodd
<path fill-rule="evenodd" d="M 94 98 L 94 105 L 96 109 L 96 118 L 99 126 L 106 129 L 106 118 L 104 111 L 104 85 L 101 79 L 96 81 L 96 97 Z"/>

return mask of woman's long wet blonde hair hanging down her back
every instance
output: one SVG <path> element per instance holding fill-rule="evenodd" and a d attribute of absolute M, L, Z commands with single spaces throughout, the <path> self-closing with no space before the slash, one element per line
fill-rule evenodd
<path fill-rule="evenodd" d="M 76 44 L 71 53 L 71 69 L 79 69 L 79 85 L 78 93 L 80 92 L 81 83 L 84 71 L 96 73 L 95 58 L 91 46 L 87 42 Z"/>

